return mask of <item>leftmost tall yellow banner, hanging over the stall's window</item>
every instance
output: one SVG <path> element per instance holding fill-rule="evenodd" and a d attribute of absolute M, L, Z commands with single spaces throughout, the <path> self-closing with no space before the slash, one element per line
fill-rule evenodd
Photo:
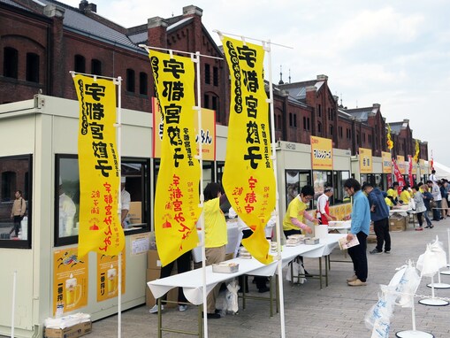
<path fill-rule="evenodd" d="M 73 81 L 80 103 L 78 256 L 84 257 L 91 250 L 114 256 L 125 245 L 118 219 L 116 85 L 111 80 L 94 80 L 80 74 Z"/>

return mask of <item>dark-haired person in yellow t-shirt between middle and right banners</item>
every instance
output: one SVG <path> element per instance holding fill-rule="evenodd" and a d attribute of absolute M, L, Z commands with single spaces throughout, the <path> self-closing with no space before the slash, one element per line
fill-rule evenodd
<path fill-rule="evenodd" d="M 220 204 L 226 202 L 225 194 L 222 194 L 220 184 L 212 182 L 203 190 L 204 204 L 203 216 L 205 227 L 205 254 L 206 265 L 213 265 L 225 260 L 225 245 L 228 242 L 226 220 Z M 220 319 L 216 311 L 216 299 L 220 285 L 213 288 L 207 297 L 208 319 Z"/>

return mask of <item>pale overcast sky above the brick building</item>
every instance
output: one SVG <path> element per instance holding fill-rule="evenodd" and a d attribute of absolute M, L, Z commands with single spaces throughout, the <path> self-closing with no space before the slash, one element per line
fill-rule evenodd
<path fill-rule="evenodd" d="M 332 94 L 348 108 L 381 104 L 386 121 L 409 119 L 435 161 L 450 166 L 446 139 L 450 90 L 450 2 L 447 0 L 94 0 L 97 14 L 124 27 L 182 14 L 194 4 L 220 44 L 225 33 L 287 45 L 272 48 L 279 81 L 328 75 Z M 78 7 L 80 0 L 63 3 Z M 339 101 L 340 103 L 340 101 Z M 414 154 L 412 154 L 414 155 Z"/>

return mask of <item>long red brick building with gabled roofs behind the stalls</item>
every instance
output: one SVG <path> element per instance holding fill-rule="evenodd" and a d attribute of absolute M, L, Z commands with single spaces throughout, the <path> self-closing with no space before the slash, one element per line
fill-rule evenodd
<path fill-rule="evenodd" d="M 182 15 L 154 17 L 147 24 L 125 28 L 98 15 L 96 5 L 86 0 L 79 8 L 53 0 L 0 0 L 0 104 L 27 100 L 39 92 L 76 99 L 69 73 L 75 71 L 121 76 L 122 106 L 151 112 L 153 79 L 140 44 L 212 57 L 202 58 L 201 105 L 217 112 L 218 124 L 227 124 L 228 69 L 220 47 L 202 25 L 202 9 L 194 5 L 184 7 Z M 377 157 L 386 150 L 380 104 L 339 106 L 326 75 L 311 81 L 280 81 L 273 88 L 277 140 L 309 144 L 309 136 L 317 135 L 353 155 L 360 147 Z M 414 155 L 416 141 L 408 120 L 391 127 L 393 154 Z M 427 159 L 426 142 L 420 143 L 420 150 L 420 158 Z"/>

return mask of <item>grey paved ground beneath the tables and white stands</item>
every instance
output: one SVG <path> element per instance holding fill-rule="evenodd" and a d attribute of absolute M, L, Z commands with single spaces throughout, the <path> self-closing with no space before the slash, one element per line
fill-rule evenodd
<path fill-rule="evenodd" d="M 439 235 L 447 250 L 447 228 L 450 218 L 435 222 L 433 229 L 423 232 L 412 230 L 409 224 L 404 232 L 391 233 L 393 250 L 390 255 L 369 255 L 369 285 L 366 287 L 348 287 L 347 277 L 352 274 L 351 265 L 332 263 L 328 288 L 319 289 L 318 280 L 308 280 L 303 285 L 292 286 L 284 282 L 286 337 L 302 338 L 359 338 L 370 337 L 371 331 L 364 326 L 364 315 L 378 300 L 379 284 L 387 284 L 395 273 L 395 268 L 405 264 L 410 258 L 416 261 L 425 250 L 425 245 Z M 374 244 L 369 244 L 372 250 Z M 342 258 L 335 250 L 332 259 Z M 318 271 L 317 260 L 305 259 L 309 273 Z M 285 270 L 286 271 L 286 270 Z M 423 279 L 417 294 L 431 296 L 431 288 Z M 450 276 L 442 276 L 442 282 L 450 283 Z M 255 284 L 250 283 L 250 292 L 255 293 Z M 256 293 L 255 293 L 256 294 Z M 259 294 L 258 294 L 259 295 Z M 436 290 L 436 296 L 450 297 L 449 289 Z M 418 298 L 416 298 L 416 302 Z M 218 306 L 219 302 L 217 302 Z M 240 302 L 241 306 L 241 302 Z M 450 306 L 431 307 L 416 303 L 416 329 L 434 334 L 436 338 L 450 337 Z M 195 330 L 197 308 L 190 306 L 186 312 L 176 309 L 164 311 L 163 324 L 187 330 Z M 280 336 L 279 315 L 269 316 L 269 303 L 250 300 L 247 309 L 237 315 L 227 315 L 222 319 L 210 319 L 209 336 L 222 337 L 258 337 Z M 145 305 L 125 311 L 122 314 L 123 337 L 157 337 L 157 316 L 149 314 Z M 412 329 L 411 309 L 395 307 L 391 321 L 390 337 L 402 330 Z M 89 338 L 117 336 L 117 316 L 96 321 Z M 166 333 L 164 337 L 187 337 L 185 334 Z"/>

